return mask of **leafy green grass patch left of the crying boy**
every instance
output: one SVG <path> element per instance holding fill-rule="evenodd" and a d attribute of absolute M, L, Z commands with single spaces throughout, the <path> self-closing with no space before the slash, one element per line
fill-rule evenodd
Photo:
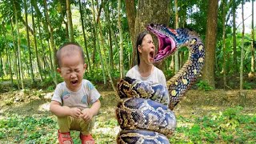
<path fill-rule="evenodd" d="M 53 140 L 52 131 L 56 122 L 52 118 L 26 116 L 21 118 L 17 114 L 7 114 L 7 118 L 0 120 L 0 140 L 8 139 L 18 143 L 46 143 Z M 6 138 L 6 139 L 5 139 Z"/>

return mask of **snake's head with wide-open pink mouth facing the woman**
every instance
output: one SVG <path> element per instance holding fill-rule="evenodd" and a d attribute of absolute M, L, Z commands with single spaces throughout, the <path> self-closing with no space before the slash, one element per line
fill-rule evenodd
<path fill-rule="evenodd" d="M 175 35 L 176 30 L 172 30 L 165 25 L 150 24 L 146 29 L 158 37 L 158 51 L 154 55 L 154 62 L 162 62 L 170 54 L 177 50 Z"/>

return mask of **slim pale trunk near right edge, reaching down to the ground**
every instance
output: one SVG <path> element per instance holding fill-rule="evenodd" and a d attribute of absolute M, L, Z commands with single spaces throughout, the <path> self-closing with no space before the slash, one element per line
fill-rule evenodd
<path fill-rule="evenodd" d="M 241 62 L 240 62 L 240 94 L 242 94 L 243 90 L 243 58 L 244 58 L 244 37 L 245 37 L 245 22 L 244 22 L 244 14 L 243 14 L 243 5 L 244 5 L 244 0 L 242 0 L 242 42 L 241 42 Z"/>

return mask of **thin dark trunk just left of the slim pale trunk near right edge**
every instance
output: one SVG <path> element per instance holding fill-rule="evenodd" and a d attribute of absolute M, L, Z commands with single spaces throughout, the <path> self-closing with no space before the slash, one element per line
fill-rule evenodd
<path fill-rule="evenodd" d="M 238 58 L 237 58 L 237 37 L 236 37 L 236 27 L 235 27 L 235 11 L 236 11 L 236 5 L 235 5 L 235 0 L 233 0 L 232 3 L 233 7 L 232 7 L 232 14 L 233 14 L 233 51 L 234 51 L 234 55 L 233 55 L 233 61 L 234 61 L 234 74 L 236 74 L 236 72 L 238 71 Z"/>

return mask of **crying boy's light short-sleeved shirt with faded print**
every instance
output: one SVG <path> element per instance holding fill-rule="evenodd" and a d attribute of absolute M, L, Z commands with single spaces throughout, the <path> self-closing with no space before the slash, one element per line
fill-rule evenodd
<path fill-rule="evenodd" d="M 62 106 L 78 107 L 83 110 L 89 108 L 98 98 L 100 98 L 98 90 L 90 81 L 83 79 L 80 90 L 76 92 L 68 90 L 66 82 L 59 83 L 51 100 L 60 102 Z"/>

